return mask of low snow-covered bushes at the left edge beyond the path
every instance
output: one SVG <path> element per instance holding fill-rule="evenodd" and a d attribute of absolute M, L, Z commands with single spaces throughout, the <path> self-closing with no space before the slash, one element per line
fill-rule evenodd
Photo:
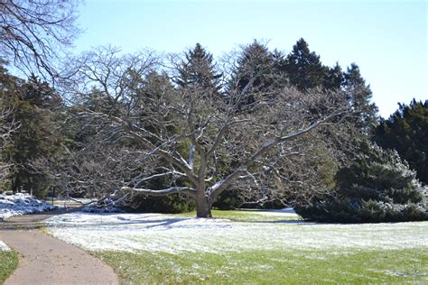
<path fill-rule="evenodd" d="M 28 194 L 0 195 L 0 221 L 11 216 L 40 213 L 55 208 L 57 207 Z"/>

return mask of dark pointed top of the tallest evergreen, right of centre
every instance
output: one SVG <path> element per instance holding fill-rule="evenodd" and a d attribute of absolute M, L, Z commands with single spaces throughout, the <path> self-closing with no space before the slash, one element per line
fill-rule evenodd
<path fill-rule="evenodd" d="M 322 87 L 328 69 L 321 63 L 320 56 L 309 50 L 302 38 L 296 42 L 285 61 L 284 66 L 290 83 L 300 90 Z"/>

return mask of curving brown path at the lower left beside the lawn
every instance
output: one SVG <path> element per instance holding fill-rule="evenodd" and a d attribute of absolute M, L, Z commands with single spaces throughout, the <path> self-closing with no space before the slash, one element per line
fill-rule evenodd
<path fill-rule="evenodd" d="M 115 272 L 106 264 L 38 229 L 38 222 L 64 212 L 14 216 L 0 222 L 0 240 L 20 253 L 18 268 L 5 285 L 118 284 Z"/>

